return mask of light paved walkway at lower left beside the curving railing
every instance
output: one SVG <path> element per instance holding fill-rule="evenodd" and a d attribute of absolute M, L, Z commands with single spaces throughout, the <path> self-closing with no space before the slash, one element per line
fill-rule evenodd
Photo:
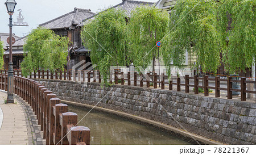
<path fill-rule="evenodd" d="M 5 104 L 7 93 L 0 91 L 0 145 L 33 144 L 29 119 L 23 104 Z"/>

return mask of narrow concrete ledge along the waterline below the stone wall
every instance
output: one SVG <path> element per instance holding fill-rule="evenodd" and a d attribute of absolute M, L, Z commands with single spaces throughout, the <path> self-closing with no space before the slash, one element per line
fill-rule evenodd
<path fill-rule="evenodd" d="M 64 104 L 69 104 L 69 105 L 73 105 L 73 106 L 80 106 L 80 107 L 86 107 L 86 108 L 94 108 L 94 110 L 97 110 L 97 111 L 104 111 L 104 112 L 107 112 L 107 113 L 110 113 L 110 114 L 115 114 L 115 115 L 118 115 L 118 116 L 121 116 L 123 118 L 130 118 L 130 119 L 133 119 L 133 120 L 137 120 L 139 122 L 142 122 L 142 123 L 146 123 L 146 124 L 150 124 L 150 125 L 154 125 L 155 127 L 158 127 L 158 128 L 162 128 L 162 129 L 165 129 L 167 131 L 170 131 L 170 132 L 174 132 L 174 133 L 177 133 L 178 135 L 181 135 L 187 139 L 192 139 L 195 138 L 197 141 L 203 143 L 203 144 L 209 144 L 209 145 L 224 145 L 223 143 L 220 143 L 220 142 L 217 142 L 217 141 L 214 141 L 214 140 L 210 140 L 210 139 L 207 139 L 206 137 L 202 137 L 202 136 L 199 136 L 199 135 L 195 135 L 193 133 L 188 133 L 186 131 L 183 131 L 181 129 L 178 129 L 178 128 L 175 128 L 175 127 L 172 127 L 170 125 L 167 125 L 167 124 L 162 124 L 162 123 L 159 123 L 159 122 L 155 122 L 154 120 L 150 120 L 150 119 L 145 119 L 145 118 L 141 118 L 139 116 L 135 116 L 135 115 L 131 115 L 131 114 L 126 114 L 125 112 L 119 112 L 119 111 L 114 111 L 114 110 L 109 110 L 107 108 L 102 108 L 102 107 L 94 107 L 94 106 L 90 106 L 88 104 L 83 104 L 83 103 L 77 103 L 77 102 L 71 102 L 71 101 L 67 101 L 67 100 L 61 100 L 61 103 L 64 103 Z M 192 137 L 191 137 L 192 136 Z"/>

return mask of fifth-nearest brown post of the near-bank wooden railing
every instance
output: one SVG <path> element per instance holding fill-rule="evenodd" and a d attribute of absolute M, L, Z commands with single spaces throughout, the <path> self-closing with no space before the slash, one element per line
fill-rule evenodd
<path fill-rule="evenodd" d="M 50 118 L 50 99 L 56 98 L 55 94 L 47 94 L 47 102 L 46 102 L 46 145 L 49 145 L 50 135 L 49 135 L 49 118 Z"/>

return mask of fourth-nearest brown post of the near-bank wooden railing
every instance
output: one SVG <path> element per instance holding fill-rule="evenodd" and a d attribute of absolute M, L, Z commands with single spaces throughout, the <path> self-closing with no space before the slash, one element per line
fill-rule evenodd
<path fill-rule="evenodd" d="M 56 104 L 60 104 L 59 98 L 51 98 L 50 105 L 49 105 L 49 144 L 54 144 L 53 133 L 55 132 L 55 115 L 53 114 L 53 107 Z"/>

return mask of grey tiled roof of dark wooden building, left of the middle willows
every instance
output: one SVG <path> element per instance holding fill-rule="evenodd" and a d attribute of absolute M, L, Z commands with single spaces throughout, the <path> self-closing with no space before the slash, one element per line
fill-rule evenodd
<path fill-rule="evenodd" d="M 58 29 L 58 28 L 70 28 L 80 24 L 82 20 L 95 15 L 90 9 L 79 9 L 76 8 L 74 11 L 69 12 L 65 15 L 59 16 L 58 18 L 49 20 L 46 23 L 39 24 L 39 26 L 48 29 Z"/>

